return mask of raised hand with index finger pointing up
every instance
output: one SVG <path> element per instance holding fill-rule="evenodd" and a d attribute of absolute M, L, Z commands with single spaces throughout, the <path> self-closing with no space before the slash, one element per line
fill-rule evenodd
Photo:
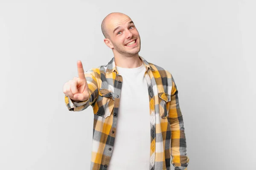
<path fill-rule="evenodd" d="M 82 62 L 77 61 L 78 77 L 66 82 L 63 86 L 63 93 L 73 99 L 74 102 L 85 101 L 89 98 L 87 81 L 84 76 Z"/>

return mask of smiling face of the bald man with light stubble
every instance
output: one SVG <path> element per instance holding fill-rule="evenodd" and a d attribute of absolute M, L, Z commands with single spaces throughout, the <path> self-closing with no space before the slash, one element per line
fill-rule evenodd
<path fill-rule="evenodd" d="M 108 34 L 113 51 L 123 56 L 134 56 L 140 52 L 140 34 L 128 16 L 110 19 Z"/>

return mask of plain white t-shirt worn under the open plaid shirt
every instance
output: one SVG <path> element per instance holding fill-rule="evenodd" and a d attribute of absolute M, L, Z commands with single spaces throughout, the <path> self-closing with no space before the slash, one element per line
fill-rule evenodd
<path fill-rule="evenodd" d="M 116 69 L 123 82 L 115 144 L 108 170 L 148 170 L 151 137 L 145 66 L 116 66 Z"/>

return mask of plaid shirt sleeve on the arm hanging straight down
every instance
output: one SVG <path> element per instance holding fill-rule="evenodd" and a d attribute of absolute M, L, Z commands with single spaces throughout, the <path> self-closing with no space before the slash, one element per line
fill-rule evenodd
<path fill-rule="evenodd" d="M 175 167 L 175 170 L 187 170 L 189 157 L 187 156 L 183 117 L 180 111 L 178 91 L 173 77 L 168 121 L 171 125 L 171 163 Z"/>

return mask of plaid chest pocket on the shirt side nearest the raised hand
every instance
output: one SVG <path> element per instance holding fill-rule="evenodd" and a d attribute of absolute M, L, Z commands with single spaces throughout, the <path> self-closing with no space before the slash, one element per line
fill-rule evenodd
<path fill-rule="evenodd" d="M 99 96 L 98 99 L 93 106 L 93 113 L 107 118 L 111 115 L 114 108 L 114 98 L 113 92 L 109 91 L 108 89 L 99 89 Z"/>

